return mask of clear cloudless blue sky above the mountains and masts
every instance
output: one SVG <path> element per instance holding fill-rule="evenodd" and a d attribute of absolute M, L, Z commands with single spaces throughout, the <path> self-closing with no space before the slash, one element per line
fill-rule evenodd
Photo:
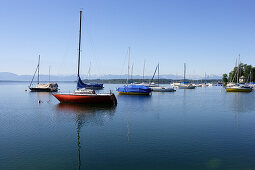
<path fill-rule="evenodd" d="M 1 0 L 0 72 L 76 74 L 79 11 L 82 69 L 125 74 L 222 74 L 238 54 L 255 64 L 254 0 Z"/>

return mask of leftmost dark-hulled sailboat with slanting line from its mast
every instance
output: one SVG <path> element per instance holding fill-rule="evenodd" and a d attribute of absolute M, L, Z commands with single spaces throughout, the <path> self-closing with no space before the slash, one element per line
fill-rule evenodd
<path fill-rule="evenodd" d="M 36 73 L 38 73 L 37 74 L 37 85 L 34 87 L 33 81 L 34 81 Z M 49 74 L 49 77 L 50 77 L 50 74 Z M 49 81 L 50 81 L 50 79 L 49 79 Z M 37 67 L 35 69 L 35 73 L 33 75 L 33 78 L 31 80 L 28 88 L 31 90 L 31 92 L 56 92 L 56 91 L 58 91 L 57 83 L 50 83 L 50 82 L 45 83 L 45 84 L 40 83 L 40 55 L 39 55 Z"/>

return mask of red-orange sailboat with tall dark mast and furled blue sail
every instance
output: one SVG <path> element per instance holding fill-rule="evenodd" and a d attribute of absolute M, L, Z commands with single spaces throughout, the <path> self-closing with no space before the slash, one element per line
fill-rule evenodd
<path fill-rule="evenodd" d="M 86 90 L 86 84 L 80 78 L 80 56 L 81 56 L 81 18 L 82 11 L 80 11 L 80 31 L 79 31 L 79 54 L 78 54 L 78 73 L 77 73 L 77 87 L 73 93 L 54 93 L 61 103 L 86 103 L 86 104 L 117 104 L 117 99 L 113 93 L 96 94 L 94 90 Z"/>

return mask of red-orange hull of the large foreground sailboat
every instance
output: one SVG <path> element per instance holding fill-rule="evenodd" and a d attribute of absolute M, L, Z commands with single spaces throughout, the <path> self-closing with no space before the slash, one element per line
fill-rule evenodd
<path fill-rule="evenodd" d="M 53 94 L 60 103 L 117 104 L 114 94 Z"/>

